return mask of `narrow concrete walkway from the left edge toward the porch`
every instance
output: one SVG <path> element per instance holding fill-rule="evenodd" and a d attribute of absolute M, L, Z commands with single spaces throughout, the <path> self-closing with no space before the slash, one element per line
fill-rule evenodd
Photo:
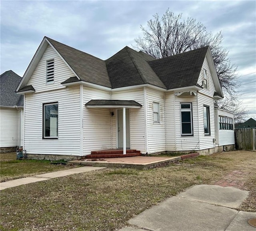
<path fill-rule="evenodd" d="M 0 190 L 16 187 L 19 185 L 26 185 L 26 184 L 34 183 L 37 181 L 46 181 L 46 180 L 56 178 L 56 177 L 64 177 L 67 175 L 83 173 L 83 172 L 93 171 L 93 170 L 103 169 L 103 168 L 105 168 L 105 167 L 90 167 L 90 166 L 76 167 L 76 168 L 72 168 L 72 169 L 66 169 L 66 170 L 61 170 L 61 171 L 54 171 L 54 172 L 50 172 L 50 173 L 34 175 L 31 177 L 19 178 L 19 179 L 15 179 L 12 181 L 1 182 Z"/>

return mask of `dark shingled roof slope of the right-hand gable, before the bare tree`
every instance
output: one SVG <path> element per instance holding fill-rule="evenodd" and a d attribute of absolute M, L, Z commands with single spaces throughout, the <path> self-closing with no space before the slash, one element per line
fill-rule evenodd
<path fill-rule="evenodd" d="M 148 63 L 167 89 L 194 86 L 207 50 L 208 46 Z"/>

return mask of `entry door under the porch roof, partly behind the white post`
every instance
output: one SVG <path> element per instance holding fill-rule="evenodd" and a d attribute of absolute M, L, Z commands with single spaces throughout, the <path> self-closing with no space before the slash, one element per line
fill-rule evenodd
<path fill-rule="evenodd" d="M 118 109 L 118 148 L 123 148 L 123 110 Z M 126 148 L 130 148 L 130 113 L 126 109 Z"/>

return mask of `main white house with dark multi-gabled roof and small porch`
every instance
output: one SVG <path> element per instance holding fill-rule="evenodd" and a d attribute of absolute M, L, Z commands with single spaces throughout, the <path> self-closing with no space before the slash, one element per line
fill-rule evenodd
<path fill-rule="evenodd" d="M 220 139 L 219 115 L 233 114 L 214 103 L 223 93 L 209 47 L 156 60 L 126 46 L 101 60 L 44 37 L 16 92 L 28 157 L 234 146 L 233 130 Z"/>

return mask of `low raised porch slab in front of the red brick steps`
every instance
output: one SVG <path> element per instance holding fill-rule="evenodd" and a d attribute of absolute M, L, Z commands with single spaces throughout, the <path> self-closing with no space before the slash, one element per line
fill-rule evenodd
<path fill-rule="evenodd" d="M 134 157 L 119 157 L 105 158 L 91 161 L 91 159 L 82 159 L 69 161 L 69 164 L 81 164 L 85 166 L 98 167 L 127 167 L 137 169 L 149 169 L 159 166 L 168 165 L 170 162 L 180 159 L 180 157 L 153 157 L 153 156 L 134 156 Z"/>

